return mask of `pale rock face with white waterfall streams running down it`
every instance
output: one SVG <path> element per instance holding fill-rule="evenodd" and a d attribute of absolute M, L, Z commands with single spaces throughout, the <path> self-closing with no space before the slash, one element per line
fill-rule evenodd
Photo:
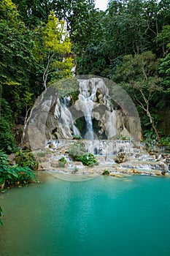
<path fill-rule="evenodd" d="M 130 98 L 125 99 L 113 85 L 109 88 L 101 78 L 80 79 L 79 83 L 78 99 L 73 105 L 67 96 L 58 99 L 50 109 L 46 121 L 48 139 L 54 135 L 58 139 L 72 139 L 78 135 L 88 140 L 141 140 L 139 116 Z"/>

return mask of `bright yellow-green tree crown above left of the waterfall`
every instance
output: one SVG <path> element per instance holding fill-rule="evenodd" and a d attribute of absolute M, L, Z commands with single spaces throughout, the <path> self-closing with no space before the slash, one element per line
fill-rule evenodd
<path fill-rule="evenodd" d="M 64 21 L 59 21 L 54 12 L 50 12 L 47 24 L 42 23 L 36 29 L 35 42 L 34 54 L 45 89 L 47 83 L 72 75 L 72 45 Z"/>

